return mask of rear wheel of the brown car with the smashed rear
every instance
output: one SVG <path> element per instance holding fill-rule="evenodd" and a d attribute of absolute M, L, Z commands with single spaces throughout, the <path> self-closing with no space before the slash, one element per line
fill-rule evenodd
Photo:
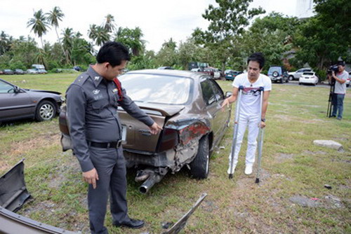
<path fill-rule="evenodd" d="M 208 137 L 204 136 L 199 141 L 199 149 L 194 160 L 190 163 L 190 174 L 196 179 L 206 179 L 210 166 L 210 151 Z"/>

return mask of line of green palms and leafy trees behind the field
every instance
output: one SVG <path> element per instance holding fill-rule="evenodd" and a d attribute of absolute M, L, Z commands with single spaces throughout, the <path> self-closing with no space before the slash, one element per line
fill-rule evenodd
<path fill-rule="evenodd" d="M 262 8 L 249 8 L 253 0 L 216 0 L 202 17 L 207 29 L 195 28 L 185 40 L 167 39 L 158 52 L 146 50 L 143 31 L 139 27 L 117 27 L 113 15 L 106 15 L 102 24 L 90 25 L 88 38 L 72 28 L 58 33 L 65 14 L 58 6 L 44 13 L 34 12 L 27 27 L 41 40 L 41 47 L 28 36 L 14 39 L 0 34 L 0 69 L 27 69 L 31 64 L 44 64 L 46 69 L 87 68 L 95 62 L 94 46 L 107 41 L 119 41 L 131 50 L 128 69 L 150 69 L 161 66 L 187 69 L 189 62 L 207 62 L 220 69 L 243 70 L 246 58 L 260 51 L 266 57 L 265 70 L 270 65 L 282 65 L 288 70 L 312 67 L 324 78 L 326 68 L 337 60 L 350 62 L 351 20 L 348 0 L 314 0 L 315 15 L 298 19 L 280 13 L 260 17 Z M 58 41 L 43 42 L 43 36 L 53 27 Z"/>

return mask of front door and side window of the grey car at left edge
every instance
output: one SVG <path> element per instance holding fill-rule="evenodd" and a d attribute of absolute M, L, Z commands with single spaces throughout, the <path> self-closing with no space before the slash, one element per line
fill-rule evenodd
<path fill-rule="evenodd" d="M 34 116 L 35 104 L 27 92 L 17 89 L 15 85 L 0 81 L 0 120 L 27 118 Z"/>

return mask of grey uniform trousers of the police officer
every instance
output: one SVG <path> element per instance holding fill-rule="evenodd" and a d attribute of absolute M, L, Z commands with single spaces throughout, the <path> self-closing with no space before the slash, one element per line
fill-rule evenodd
<path fill-rule="evenodd" d="M 123 150 L 89 147 L 91 161 L 98 172 L 96 188 L 89 184 L 88 209 L 91 233 L 107 233 L 104 226 L 107 199 L 114 224 L 128 221 L 126 201 L 126 163 Z"/>

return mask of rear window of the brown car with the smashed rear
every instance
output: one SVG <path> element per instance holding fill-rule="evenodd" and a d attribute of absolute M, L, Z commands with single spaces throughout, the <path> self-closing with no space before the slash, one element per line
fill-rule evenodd
<path fill-rule="evenodd" d="M 157 74 L 124 74 L 119 77 L 119 80 L 133 101 L 185 104 L 190 98 L 191 78 Z"/>

